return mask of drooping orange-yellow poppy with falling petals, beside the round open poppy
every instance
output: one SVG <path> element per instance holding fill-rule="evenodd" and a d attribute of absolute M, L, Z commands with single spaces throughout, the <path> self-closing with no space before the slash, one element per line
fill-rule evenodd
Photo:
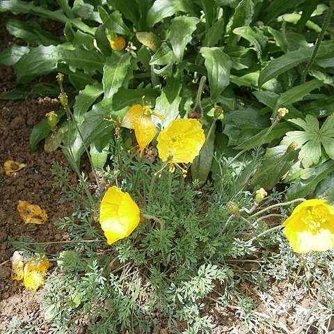
<path fill-rule="evenodd" d="M 141 150 L 140 156 L 143 155 L 144 149 L 157 134 L 157 128 L 152 122 L 152 115 L 164 120 L 164 116 L 154 113 L 151 106 L 136 104 L 127 111 L 121 123 L 122 127 L 134 129 L 134 135 Z"/>

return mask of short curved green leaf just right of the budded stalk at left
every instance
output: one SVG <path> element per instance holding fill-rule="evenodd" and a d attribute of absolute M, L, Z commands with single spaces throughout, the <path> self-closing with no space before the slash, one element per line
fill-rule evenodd
<path fill-rule="evenodd" d="M 84 90 L 80 90 L 73 105 L 73 115 L 79 124 L 84 121 L 84 114 L 102 93 L 102 84 L 99 82 L 87 85 Z"/>

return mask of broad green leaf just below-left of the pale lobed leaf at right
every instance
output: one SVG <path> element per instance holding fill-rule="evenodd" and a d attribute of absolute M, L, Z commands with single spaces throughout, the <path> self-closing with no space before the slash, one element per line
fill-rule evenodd
<path fill-rule="evenodd" d="M 250 184 L 271 189 L 278 184 L 280 178 L 287 173 L 298 157 L 298 151 L 289 152 L 287 145 L 279 145 L 275 148 L 267 148 L 262 163 L 257 168 Z"/>

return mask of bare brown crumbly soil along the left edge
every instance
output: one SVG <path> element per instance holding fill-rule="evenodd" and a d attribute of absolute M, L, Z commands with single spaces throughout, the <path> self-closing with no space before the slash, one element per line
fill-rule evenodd
<path fill-rule="evenodd" d="M 0 51 L 11 42 L 5 28 L 6 15 L 1 14 Z M 15 87 L 15 74 L 11 67 L 0 65 L 0 94 Z M 0 331 L 6 328 L 13 316 L 26 318 L 28 322 L 42 319 L 40 296 L 27 289 L 22 289 L 10 277 L 10 257 L 16 250 L 8 237 L 18 240 L 20 237 L 32 243 L 59 241 L 63 232 L 59 232 L 54 221 L 71 214 L 68 205 L 59 205 L 60 189 L 52 186 L 51 164 L 68 167 L 61 152 L 46 153 L 42 143 L 37 150 L 29 148 L 29 135 L 33 125 L 45 117 L 45 113 L 59 108 L 58 100 L 49 98 L 8 101 L 0 100 Z M 3 163 L 15 160 L 26 164 L 16 173 L 6 176 Z M 25 224 L 17 212 L 19 200 L 26 200 L 40 205 L 48 214 L 45 225 Z M 56 246 L 47 248 L 49 253 L 56 253 Z"/>

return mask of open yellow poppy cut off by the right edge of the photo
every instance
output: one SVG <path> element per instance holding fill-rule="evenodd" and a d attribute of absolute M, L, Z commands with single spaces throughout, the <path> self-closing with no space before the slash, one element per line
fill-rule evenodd
<path fill-rule="evenodd" d="M 334 247 L 334 207 L 326 200 L 306 200 L 282 224 L 296 253 Z"/>

